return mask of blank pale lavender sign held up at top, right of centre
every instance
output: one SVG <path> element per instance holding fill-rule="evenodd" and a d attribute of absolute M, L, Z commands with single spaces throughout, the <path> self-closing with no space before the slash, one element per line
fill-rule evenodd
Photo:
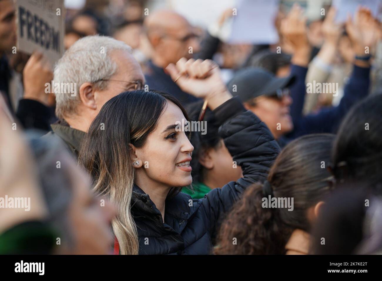
<path fill-rule="evenodd" d="M 274 44 L 278 42 L 275 18 L 278 0 L 242 0 L 233 16 L 230 43 Z"/>

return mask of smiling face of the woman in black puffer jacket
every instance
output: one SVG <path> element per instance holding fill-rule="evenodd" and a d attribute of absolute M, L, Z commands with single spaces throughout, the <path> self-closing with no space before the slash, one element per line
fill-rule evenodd
<path fill-rule="evenodd" d="M 135 148 L 135 155 L 140 162 L 136 182 L 167 187 L 183 187 L 192 183 L 189 161 L 194 147 L 188 139 L 190 132 L 176 130 L 177 122 L 182 123 L 182 119 L 186 121 L 182 110 L 167 101 L 145 145 Z"/>

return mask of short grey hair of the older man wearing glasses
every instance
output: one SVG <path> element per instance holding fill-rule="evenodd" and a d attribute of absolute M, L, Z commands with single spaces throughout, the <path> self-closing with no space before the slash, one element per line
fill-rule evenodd
<path fill-rule="evenodd" d="M 54 68 L 54 84 L 76 83 L 76 93 L 56 91 L 56 115 L 63 120 L 64 116 L 75 115 L 76 107 L 81 103 L 79 87 L 85 83 L 94 83 L 95 88 L 103 90 L 108 79 L 117 71 L 117 63 L 110 58 L 113 50 L 125 50 L 130 54 L 132 49 L 122 41 L 107 36 L 86 36 L 76 41 L 58 60 Z"/>

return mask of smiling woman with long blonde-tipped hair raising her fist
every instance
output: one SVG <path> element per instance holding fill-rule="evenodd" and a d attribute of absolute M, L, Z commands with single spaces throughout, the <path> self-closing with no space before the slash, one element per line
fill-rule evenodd
<path fill-rule="evenodd" d="M 167 71 L 183 91 L 208 102 L 244 177 L 204 199 L 181 193 L 192 182 L 194 148 L 179 127 L 188 121 L 180 102 L 155 91 L 113 97 L 92 122 L 79 161 L 95 191 L 119 207 L 112 226 L 121 254 L 209 254 L 224 214 L 246 187 L 267 177 L 279 152 L 269 129 L 232 98 L 213 62 L 183 58 Z"/>

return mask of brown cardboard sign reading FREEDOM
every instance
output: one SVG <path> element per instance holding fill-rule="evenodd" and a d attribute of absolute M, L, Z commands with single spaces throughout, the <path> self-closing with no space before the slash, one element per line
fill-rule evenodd
<path fill-rule="evenodd" d="M 63 0 L 16 0 L 17 50 L 39 50 L 54 65 L 64 52 Z"/>

